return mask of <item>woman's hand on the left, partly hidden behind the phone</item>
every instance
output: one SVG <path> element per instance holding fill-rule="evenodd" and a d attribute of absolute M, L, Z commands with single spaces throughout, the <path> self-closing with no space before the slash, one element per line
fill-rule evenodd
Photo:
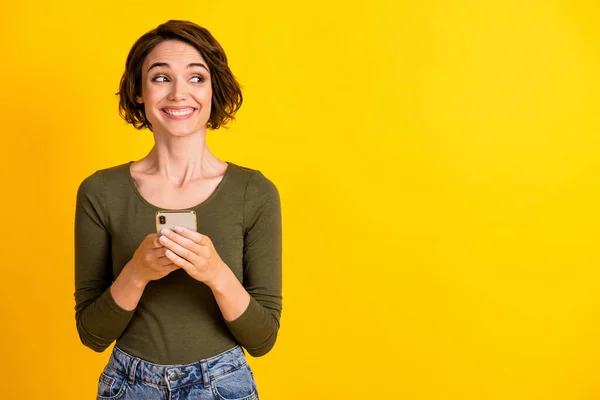
<path fill-rule="evenodd" d="M 158 235 L 151 233 L 142 240 L 129 262 L 129 273 L 138 282 L 146 285 L 150 281 L 164 278 L 179 267 L 165 256 L 167 249 L 159 242 Z"/>

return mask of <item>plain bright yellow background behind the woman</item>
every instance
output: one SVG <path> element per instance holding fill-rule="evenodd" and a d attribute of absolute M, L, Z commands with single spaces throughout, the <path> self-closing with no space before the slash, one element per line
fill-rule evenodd
<path fill-rule="evenodd" d="M 75 193 L 149 150 L 114 93 L 174 18 L 244 86 L 212 149 L 282 198 L 261 399 L 600 398 L 598 2 L 81 3 L 2 7 L 0 397 L 95 395 Z"/>

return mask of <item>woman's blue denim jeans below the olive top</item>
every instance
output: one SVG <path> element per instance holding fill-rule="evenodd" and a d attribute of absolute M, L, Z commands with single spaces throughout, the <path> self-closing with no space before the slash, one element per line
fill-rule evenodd
<path fill-rule="evenodd" d="M 187 365 L 152 364 L 115 346 L 100 374 L 98 399 L 258 400 L 258 392 L 239 346 Z"/>

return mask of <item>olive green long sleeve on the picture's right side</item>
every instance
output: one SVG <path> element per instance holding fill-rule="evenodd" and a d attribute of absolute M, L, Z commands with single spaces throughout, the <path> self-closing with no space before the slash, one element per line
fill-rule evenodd
<path fill-rule="evenodd" d="M 255 172 L 244 199 L 243 285 L 250 294 L 244 313 L 227 323 L 254 357 L 271 350 L 281 317 L 281 204 L 275 185 Z"/>

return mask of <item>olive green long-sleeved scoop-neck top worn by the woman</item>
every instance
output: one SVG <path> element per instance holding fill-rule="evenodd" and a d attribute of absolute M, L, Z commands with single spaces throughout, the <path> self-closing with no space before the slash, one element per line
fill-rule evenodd
<path fill-rule="evenodd" d="M 135 310 L 121 308 L 110 286 L 142 240 L 156 232 L 158 207 L 137 190 L 130 163 L 97 171 L 77 192 L 75 319 L 84 345 L 123 351 L 156 364 L 188 364 L 237 344 L 257 357 L 274 345 L 281 315 L 281 209 L 262 173 L 228 163 L 196 212 L 198 232 L 250 294 L 236 320 L 224 320 L 210 288 L 183 269 L 151 281 Z"/>

